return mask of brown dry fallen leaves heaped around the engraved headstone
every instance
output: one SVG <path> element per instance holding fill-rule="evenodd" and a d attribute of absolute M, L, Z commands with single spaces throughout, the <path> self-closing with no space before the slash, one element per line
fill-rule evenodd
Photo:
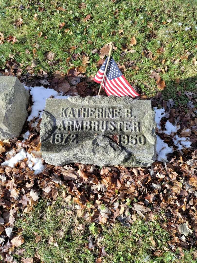
<path fill-rule="evenodd" d="M 102 51 L 104 58 L 108 50 L 94 50 Z M 83 59 L 85 67 L 89 60 L 85 54 Z M 13 60 L 8 62 L 11 67 L 3 72 L 5 75 L 17 74 L 18 68 L 14 68 L 13 63 Z M 41 71 L 36 80 L 28 73 L 21 76 L 21 80 L 28 80 L 28 83 L 34 81 L 34 85 L 50 85 L 66 94 L 95 95 L 96 84 L 90 86 L 92 79 L 87 78 L 82 70 L 71 68 L 67 76 L 55 72 L 52 78 Z M 163 85 L 158 73 L 153 73 L 152 77 Z M 164 108 L 166 113 L 161 119 L 158 135 L 173 147 L 173 152 L 168 154 L 165 163 L 156 161 L 147 168 L 115 166 L 102 169 L 78 163 L 64 167 L 44 163 L 44 171 L 37 175 L 29 168 L 27 158 L 15 164 L 14 168 L 0 166 L 0 250 L 5 261 L 11 262 L 10 255 L 24 242 L 20 230 L 13 233 L 18 211 L 30 213 L 40 198 L 56 200 L 60 185 L 68 188 L 70 195 L 65 198 L 76 203 L 76 214 L 88 222 L 95 222 L 98 231 L 101 224 L 111 224 L 115 220 L 130 226 L 136 220 L 136 214 L 146 221 L 153 221 L 157 215 L 162 227 L 172 236 L 168 249 L 197 245 L 197 100 L 194 93 L 186 93 L 186 96 L 190 100 L 186 108 L 175 106 L 172 100 L 163 100 L 160 93 L 151 99 L 153 107 Z M 146 99 L 146 96 L 140 99 Z M 162 131 L 167 120 L 180 125 L 177 134 L 189 138 L 190 148 L 179 151 L 172 136 Z M 40 156 L 39 123 L 37 127 L 26 123 L 24 131 L 27 130 L 30 134 L 26 140 L 19 137 L 0 141 L 1 163 L 10 158 L 11 150 L 18 152 L 25 149 Z M 162 251 L 155 253 L 159 255 Z"/>

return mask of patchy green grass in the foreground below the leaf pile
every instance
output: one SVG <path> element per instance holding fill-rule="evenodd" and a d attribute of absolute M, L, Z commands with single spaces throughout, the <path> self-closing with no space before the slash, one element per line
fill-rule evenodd
<path fill-rule="evenodd" d="M 75 213 L 75 205 L 72 202 L 65 203 L 59 196 L 52 205 L 48 206 L 47 200 L 40 200 L 32 213 L 20 215 L 16 227 L 18 231 L 22 227 L 25 238 L 21 246 L 25 249 L 22 257 L 39 257 L 44 263 L 93 263 L 99 256 L 99 249 L 104 246 L 108 255 L 102 258 L 103 263 L 195 262 L 192 249 L 183 251 L 185 256 L 182 259 L 178 259 L 178 249 L 174 253 L 167 249 L 170 236 L 156 220 L 145 222 L 137 219 L 131 227 L 124 227 L 118 222 L 112 226 L 103 226 L 98 246 L 94 250 L 88 249 L 88 237 L 91 235 L 95 244 L 98 233 L 92 233 L 90 224 L 78 218 Z M 80 224 L 84 225 L 83 230 L 78 230 Z M 40 240 L 36 243 L 38 235 Z M 163 254 L 153 256 L 159 250 Z M 14 257 L 20 262 L 19 256 Z"/>

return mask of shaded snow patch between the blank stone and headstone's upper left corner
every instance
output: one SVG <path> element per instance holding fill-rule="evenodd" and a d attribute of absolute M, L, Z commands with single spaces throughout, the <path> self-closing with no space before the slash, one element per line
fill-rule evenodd
<path fill-rule="evenodd" d="M 30 95 L 32 95 L 32 112 L 28 117 L 28 122 L 36 117 L 41 118 L 45 107 L 46 99 L 50 96 L 54 96 L 56 99 L 66 99 L 68 96 L 63 96 L 63 93 L 58 93 L 54 89 L 46 89 L 43 86 L 40 87 L 27 87 L 25 89 L 30 90 Z"/>

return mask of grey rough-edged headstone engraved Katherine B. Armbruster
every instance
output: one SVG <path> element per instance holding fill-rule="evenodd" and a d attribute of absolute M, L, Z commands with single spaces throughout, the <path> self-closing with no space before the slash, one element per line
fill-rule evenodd
<path fill-rule="evenodd" d="M 149 166 L 156 135 L 150 100 L 95 96 L 46 99 L 40 130 L 46 163 Z"/>

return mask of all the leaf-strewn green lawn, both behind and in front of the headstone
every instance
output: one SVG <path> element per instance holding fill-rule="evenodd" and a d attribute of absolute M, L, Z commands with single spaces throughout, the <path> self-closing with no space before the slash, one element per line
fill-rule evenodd
<path fill-rule="evenodd" d="M 30 83 L 45 72 L 50 82 L 57 70 L 69 80 L 68 70 L 76 68 L 96 95 L 98 84 L 87 80 L 101 59 L 93 50 L 113 42 L 113 58 L 141 94 L 161 91 L 150 77 L 155 71 L 165 82 L 165 99 L 189 101 L 184 92 L 197 85 L 195 0 L 81 1 L 0 0 L 0 73 Z M 196 262 L 194 249 L 169 247 L 172 237 L 160 224 L 165 216 L 133 221 L 130 227 L 118 221 L 102 225 L 98 232 L 98 225 L 76 215 L 76 204 L 61 193 L 53 202 L 41 198 L 31 213 L 18 215 L 14 230 L 24 236 L 19 249 L 25 251 L 13 257 L 44 263 Z"/>

